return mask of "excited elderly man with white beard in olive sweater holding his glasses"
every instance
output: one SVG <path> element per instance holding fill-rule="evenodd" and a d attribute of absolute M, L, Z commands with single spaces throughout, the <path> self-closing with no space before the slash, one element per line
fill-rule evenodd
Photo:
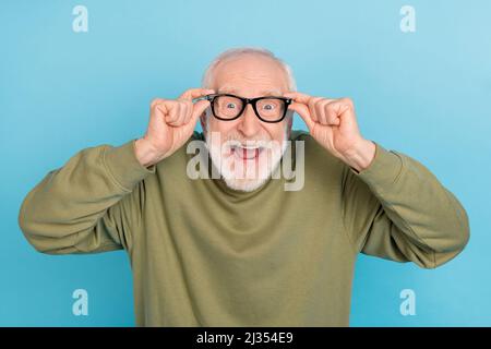
<path fill-rule="evenodd" d="M 221 53 L 202 87 L 154 100 L 144 136 L 83 149 L 21 207 L 37 251 L 128 252 L 139 326 L 346 326 L 359 252 L 434 268 L 466 245 L 457 198 L 364 139 L 350 99 L 297 93 L 288 65 L 253 48 Z M 294 111 L 309 132 L 291 131 Z M 190 178 L 190 142 L 218 178 Z M 304 151 L 291 191 L 272 176 L 287 142 Z"/>

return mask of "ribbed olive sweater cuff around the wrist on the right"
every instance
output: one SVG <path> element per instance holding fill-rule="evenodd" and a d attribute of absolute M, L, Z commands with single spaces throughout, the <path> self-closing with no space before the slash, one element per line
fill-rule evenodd
<path fill-rule="evenodd" d="M 355 172 L 369 186 L 382 190 L 397 181 L 403 171 L 403 158 L 375 143 L 375 156 L 372 163 L 360 172 Z"/>

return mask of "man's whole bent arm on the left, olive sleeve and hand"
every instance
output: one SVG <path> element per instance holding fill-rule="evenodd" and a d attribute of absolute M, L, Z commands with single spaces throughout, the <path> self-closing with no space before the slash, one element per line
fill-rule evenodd
<path fill-rule="evenodd" d="M 145 135 L 119 147 L 87 148 L 49 172 L 24 200 L 19 225 L 50 254 L 131 250 L 145 203 L 143 179 L 192 135 L 213 89 L 190 88 L 177 100 L 154 99 Z"/>

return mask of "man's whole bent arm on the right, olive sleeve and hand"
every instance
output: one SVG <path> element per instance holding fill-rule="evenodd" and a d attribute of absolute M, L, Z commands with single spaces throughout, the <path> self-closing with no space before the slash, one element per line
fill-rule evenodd
<path fill-rule="evenodd" d="M 464 249 L 469 222 L 457 198 L 418 161 L 366 140 L 351 99 L 284 96 L 315 141 L 345 164 L 343 219 L 356 252 L 431 268 Z"/>

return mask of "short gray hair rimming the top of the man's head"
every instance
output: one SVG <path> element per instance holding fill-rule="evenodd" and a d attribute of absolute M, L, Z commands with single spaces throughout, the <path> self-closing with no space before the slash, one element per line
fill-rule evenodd
<path fill-rule="evenodd" d="M 265 48 L 261 48 L 261 47 L 231 48 L 231 49 L 228 49 L 228 50 L 221 52 L 220 55 L 218 55 L 218 57 L 216 57 L 212 61 L 212 63 L 209 63 L 208 68 L 204 72 L 203 79 L 201 82 L 202 87 L 209 88 L 212 86 L 213 73 L 214 73 L 215 68 L 218 65 L 218 63 L 220 63 L 225 60 L 228 60 L 230 58 L 240 57 L 242 55 L 248 55 L 248 53 L 260 55 L 260 56 L 267 57 L 267 58 L 271 58 L 274 61 L 276 61 L 279 64 L 279 67 L 282 67 L 282 69 L 285 71 L 285 74 L 286 74 L 287 81 L 288 81 L 289 91 L 294 91 L 294 92 L 297 91 L 297 83 L 295 82 L 294 72 L 292 72 L 291 68 L 287 63 L 285 63 L 283 60 L 277 58 L 272 51 L 270 51 Z"/>

